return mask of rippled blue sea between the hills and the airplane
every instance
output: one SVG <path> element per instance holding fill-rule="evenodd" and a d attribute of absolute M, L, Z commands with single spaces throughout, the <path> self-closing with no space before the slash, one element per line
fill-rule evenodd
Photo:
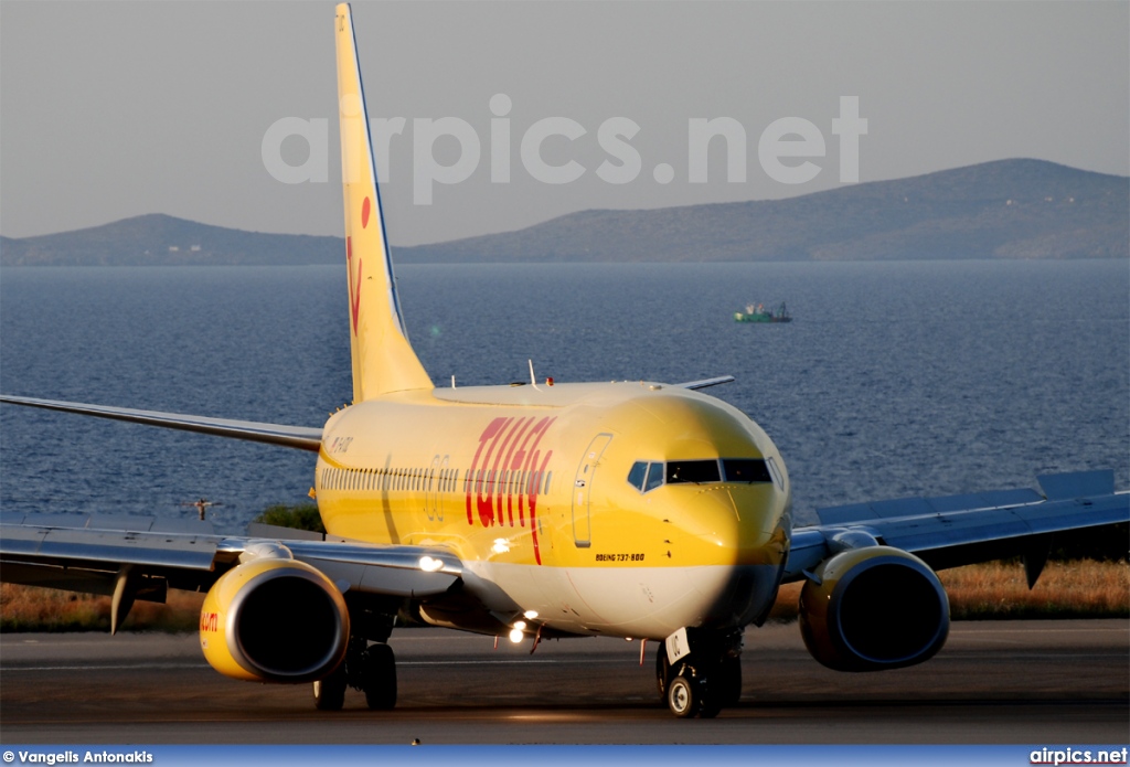
<path fill-rule="evenodd" d="M 1130 486 L 1125 261 L 431 265 L 398 270 L 440 385 L 529 376 L 709 390 L 780 446 L 800 518 L 858 500 Z M 786 325 L 738 324 L 788 302 Z M 5 269 L 0 390 L 321 426 L 350 399 L 344 268 Z M 5 511 L 190 516 L 298 503 L 307 453 L 0 407 Z"/>

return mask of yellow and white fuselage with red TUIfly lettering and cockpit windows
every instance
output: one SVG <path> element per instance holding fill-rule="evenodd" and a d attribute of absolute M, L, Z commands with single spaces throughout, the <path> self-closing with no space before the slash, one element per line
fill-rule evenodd
<path fill-rule="evenodd" d="M 330 534 L 446 548 L 495 619 L 533 611 L 556 634 L 745 626 L 771 607 L 791 534 L 765 433 L 719 400 L 644 382 L 357 403 L 325 425 L 316 495 Z M 442 603 L 423 615 L 497 631 Z"/>

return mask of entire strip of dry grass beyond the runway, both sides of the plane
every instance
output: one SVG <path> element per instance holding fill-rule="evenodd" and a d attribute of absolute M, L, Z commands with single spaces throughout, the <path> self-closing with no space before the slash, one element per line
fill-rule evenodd
<path fill-rule="evenodd" d="M 970 565 L 939 574 L 955 620 L 1130 617 L 1130 564 L 1049 563 L 1028 591 L 1019 563 Z M 802 584 L 782 586 L 771 619 L 793 620 Z M 203 594 L 173 591 L 167 604 L 138 602 L 127 631 L 192 631 Z M 0 584 L 0 630 L 110 630 L 110 598 Z"/>

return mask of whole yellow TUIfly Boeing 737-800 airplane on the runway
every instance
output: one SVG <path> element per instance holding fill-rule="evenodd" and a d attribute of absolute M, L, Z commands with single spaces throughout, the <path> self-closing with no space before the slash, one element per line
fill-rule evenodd
<path fill-rule="evenodd" d="M 1112 472 L 1081 472 L 1040 478 L 1043 494 L 862 504 L 794 528 L 773 442 L 697 391 L 730 376 L 538 383 L 531 365 L 525 385 L 434 386 L 392 279 L 348 5 L 334 29 L 354 403 L 315 429 L 0 398 L 315 452 L 329 533 L 5 513 L 5 581 L 111 594 L 112 630 L 134 600 L 206 591 L 208 662 L 313 682 L 322 709 L 341 708 L 350 686 L 371 708 L 395 704 L 386 640 L 401 610 L 533 648 L 653 639 L 662 699 L 709 717 L 737 703 L 744 629 L 782 582 L 806 582 L 800 627 L 820 663 L 899 668 L 946 640 L 935 569 L 1020 554 L 1034 583 L 1051 533 L 1130 520 Z"/>

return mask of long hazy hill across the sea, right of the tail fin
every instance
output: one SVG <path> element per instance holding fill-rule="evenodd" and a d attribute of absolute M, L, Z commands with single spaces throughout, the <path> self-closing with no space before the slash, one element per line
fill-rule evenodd
<path fill-rule="evenodd" d="M 1000 160 L 786 200 L 586 210 L 400 261 L 1130 258 L 1130 178 Z"/>

